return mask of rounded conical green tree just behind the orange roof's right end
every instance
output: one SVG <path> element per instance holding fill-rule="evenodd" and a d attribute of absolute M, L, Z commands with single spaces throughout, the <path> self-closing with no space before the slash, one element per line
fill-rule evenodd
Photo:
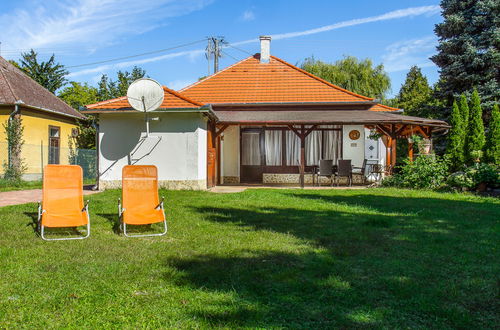
<path fill-rule="evenodd" d="M 418 66 L 412 66 L 396 98 L 397 107 L 417 117 L 431 116 L 432 88 Z"/>

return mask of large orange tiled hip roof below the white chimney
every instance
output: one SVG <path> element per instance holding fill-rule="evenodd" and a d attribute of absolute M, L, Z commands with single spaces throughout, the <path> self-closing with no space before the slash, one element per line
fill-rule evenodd
<path fill-rule="evenodd" d="M 275 56 L 260 63 L 260 54 L 250 56 L 180 90 L 203 104 L 362 102 L 362 96 L 329 83 Z M 370 110 L 399 109 L 374 105 Z"/>

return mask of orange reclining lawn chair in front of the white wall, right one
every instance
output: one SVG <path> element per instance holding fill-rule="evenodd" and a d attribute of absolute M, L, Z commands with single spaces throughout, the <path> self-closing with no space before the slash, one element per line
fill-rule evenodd
<path fill-rule="evenodd" d="M 121 202 L 123 201 L 123 205 Z M 122 170 L 122 201 L 118 212 L 123 234 L 127 237 L 162 236 L 167 233 L 163 198 L 158 196 L 158 170 L 153 165 L 127 165 Z M 127 234 L 127 225 L 150 225 L 163 222 L 162 233 L 146 235 Z"/>

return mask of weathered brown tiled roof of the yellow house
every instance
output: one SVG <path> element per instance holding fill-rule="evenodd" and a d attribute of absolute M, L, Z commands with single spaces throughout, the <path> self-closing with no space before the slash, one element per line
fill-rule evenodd
<path fill-rule="evenodd" d="M 0 56 L 0 104 L 13 105 L 19 101 L 28 108 L 78 119 L 85 118 Z"/>

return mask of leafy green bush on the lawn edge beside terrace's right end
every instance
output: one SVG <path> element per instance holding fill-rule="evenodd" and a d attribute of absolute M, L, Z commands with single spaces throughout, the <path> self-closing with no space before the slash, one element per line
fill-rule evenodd
<path fill-rule="evenodd" d="M 412 189 L 437 189 L 444 185 L 448 174 L 448 160 L 436 155 L 421 155 L 411 162 L 406 159 L 400 172 L 384 179 L 383 186 Z"/>

